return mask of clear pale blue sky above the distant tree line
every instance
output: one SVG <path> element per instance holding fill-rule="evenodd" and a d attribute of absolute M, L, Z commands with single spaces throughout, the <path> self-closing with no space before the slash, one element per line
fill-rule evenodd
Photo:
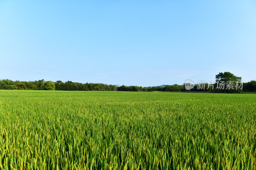
<path fill-rule="evenodd" d="M 0 79 L 256 79 L 256 1 L 0 0 Z"/>

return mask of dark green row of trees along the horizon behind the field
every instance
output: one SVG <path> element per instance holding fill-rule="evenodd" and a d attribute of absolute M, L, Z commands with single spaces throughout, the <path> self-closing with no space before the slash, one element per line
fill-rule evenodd
<path fill-rule="evenodd" d="M 103 83 L 77 83 L 72 81 L 12 81 L 9 79 L 0 80 L 0 90 L 64 90 L 64 91 L 162 91 L 162 92 L 225 92 L 225 93 L 241 93 L 241 92 L 256 92 L 256 81 L 243 83 L 242 89 L 236 89 L 235 84 L 231 88 L 227 88 L 228 81 L 241 82 L 241 77 L 237 77 L 230 72 L 219 73 L 216 75 L 216 83 L 204 84 L 204 88 L 200 84 L 195 84 L 194 88 L 186 90 L 185 83 L 183 85 L 166 85 L 165 87 L 153 86 L 126 86 L 126 85 L 107 85 Z M 225 82 L 223 88 L 218 89 L 217 82 Z M 209 85 L 209 88 L 208 88 Z"/>

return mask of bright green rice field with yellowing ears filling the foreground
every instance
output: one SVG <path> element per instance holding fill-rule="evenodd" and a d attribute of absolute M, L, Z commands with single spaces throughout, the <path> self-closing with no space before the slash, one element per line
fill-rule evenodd
<path fill-rule="evenodd" d="M 256 95 L 0 90 L 0 169 L 255 169 Z"/>

